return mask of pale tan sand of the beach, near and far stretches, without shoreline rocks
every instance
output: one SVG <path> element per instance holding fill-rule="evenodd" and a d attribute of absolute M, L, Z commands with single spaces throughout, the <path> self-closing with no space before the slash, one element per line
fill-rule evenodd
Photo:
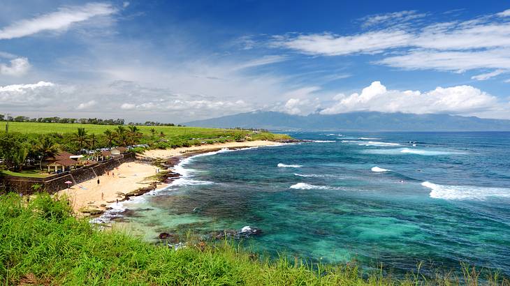
<path fill-rule="evenodd" d="M 202 146 L 182 147 L 176 149 L 156 149 L 145 151 L 141 157 L 143 158 L 170 158 L 174 156 L 182 156 L 186 153 L 202 153 L 221 148 L 241 148 L 268 145 L 281 145 L 282 143 L 271 141 L 249 141 L 249 142 L 226 142 L 219 144 L 210 144 Z M 73 209 L 79 213 L 80 209 L 100 209 L 105 210 L 108 204 L 115 202 L 117 199 L 121 201 L 124 195 L 138 188 L 147 187 L 155 179 L 147 178 L 156 174 L 156 166 L 147 163 L 124 163 L 118 169 L 112 172 L 115 176 L 103 174 L 98 178 L 79 183 L 69 189 L 59 191 L 59 195 L 68 195 L 73 205 Z M 99 179 L 99 185 L 97 183 Z M 156 189 L 164 188 L 166 184 L 159 183 Z M 103 193 L 103 200 L 101 200 Z M 101 206 L 103 204 L 103 206 Z"/>

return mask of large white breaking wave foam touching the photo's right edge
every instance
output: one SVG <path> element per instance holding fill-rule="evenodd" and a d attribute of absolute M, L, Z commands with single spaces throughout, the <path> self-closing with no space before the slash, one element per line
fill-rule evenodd
<path fill-rule="evenodd" d="M 510 197 L 510 188 L 439 185 L 424 181 L 421 186 L 430 188 L 430 197 L 443 200 L 486 200 L 488 197 Z"/>

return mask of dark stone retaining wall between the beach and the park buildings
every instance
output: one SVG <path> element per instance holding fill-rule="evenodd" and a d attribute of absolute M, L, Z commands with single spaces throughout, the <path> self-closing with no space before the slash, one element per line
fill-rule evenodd
<path fill-rule="evenodd" d="M 119 167 L 122 163 L 133 162 L 135 155 L 133 153 L 125 154 L 122 158 L 115 158 L 105 161 L 104 163 L 98 163 L 87 167 L 82 167 L 78 170 L 64 172 L 56 174 L 54 176 L 48 176 L 46 178 L 24 178 L 19 176 L 6 176 L 4 181 L 8 191 L 15 193 L 22 193 L 23 195 L 30 195 L 34 193 L 32 186 L 36 183 L 43 186 L 43 190 L 48 193 L 57 193 L 59 190 L 67 188 L 66 181 L 72 181 L 73 183 L 82 183 L 90 179 L 94 179 L 96 174 L 101 176 L 105 172 L 114 170 L 115 167 Z M 95 172 L 95 173 L 94 173 Z"/>

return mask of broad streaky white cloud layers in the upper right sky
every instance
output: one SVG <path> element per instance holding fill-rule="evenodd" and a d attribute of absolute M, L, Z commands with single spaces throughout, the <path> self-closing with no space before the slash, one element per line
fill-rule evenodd
<path fill-rule="evenodd" d="M 382 54 L 382 59 L 373 63 L 395 68 L 453 72 L 509 69 L 510 21 L 497 17 L 508 11 L 425 26 L 416 22 L 418 14 L 414 11 L 401 11 L 363 18 L 367 27 L 374 28 L 365 33 L 289 33 L 274 36 L 270 45 L 320 56 Z M 399 19 L 408 23 L 395 24 Z M 381 25 L 384 22 L 392 24 Z"/>

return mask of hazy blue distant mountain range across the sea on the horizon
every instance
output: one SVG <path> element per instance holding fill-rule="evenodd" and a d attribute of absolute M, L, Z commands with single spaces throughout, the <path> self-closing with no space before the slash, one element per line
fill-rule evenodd
<path fill-rule="evenodd" d="M 269 130 L 377 130 L 377 131 L 510 131 L 510 120 L 481 119 L 448 114 L 350 112 L 291 115 L 282 112 L 247 112 L 184 123 L 214 128 Z"/>

